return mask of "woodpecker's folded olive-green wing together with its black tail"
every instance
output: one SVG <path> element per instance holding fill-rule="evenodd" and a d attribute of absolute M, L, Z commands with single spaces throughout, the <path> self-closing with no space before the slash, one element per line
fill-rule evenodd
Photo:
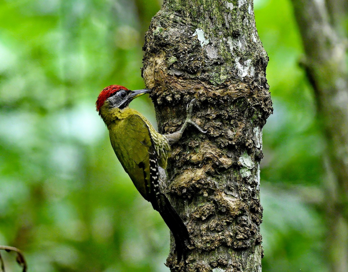
<path fill-rule="evenodd" d="M 172 231 L 180 261 L 185 258 L 190 236 L 165 192 L 160 191 L 157 155 L 149 127 L 139 115 L 132 114 L 115 123 L 109 132 L 113 150 L 136 189 L 159 211 Z"/>

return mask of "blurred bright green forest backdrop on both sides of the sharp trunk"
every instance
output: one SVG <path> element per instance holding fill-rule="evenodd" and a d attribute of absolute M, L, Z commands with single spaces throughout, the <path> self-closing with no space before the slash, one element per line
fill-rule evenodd
<path fill-rule="evenodd" d="M 105 86 L 144 87 L 143 37 L 160 5 L 0 0 L 0 244 L 22 249 L 29 271 L 169 271 L 169 230 L 123 171 L 94 106 Z M 324 138 L 299 31 L 289 0 L 254 9 L 274 103 L 263 130 L 263 271 L 326 272 L 316 205 Z M 132 107 L 156 122 L 148 97 Z M 7 271 L 20 270 L 2 255 Z"/>

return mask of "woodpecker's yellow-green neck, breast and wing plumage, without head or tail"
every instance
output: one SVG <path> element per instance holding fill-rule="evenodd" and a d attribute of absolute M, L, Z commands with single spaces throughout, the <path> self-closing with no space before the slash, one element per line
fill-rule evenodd
<path fill-rule="evenodd" d="M 136 189 L 150 201 L 147 193 L 150 190 L 149 151 L 155 150 L 159 166 L 165 169 L 170 150 L 167 139 L 140 112 L 129 107 L 122 110 L 110 108 L 105 102 L 101 115 L 108 127 L 110 142 L 117 158 Z"/>

